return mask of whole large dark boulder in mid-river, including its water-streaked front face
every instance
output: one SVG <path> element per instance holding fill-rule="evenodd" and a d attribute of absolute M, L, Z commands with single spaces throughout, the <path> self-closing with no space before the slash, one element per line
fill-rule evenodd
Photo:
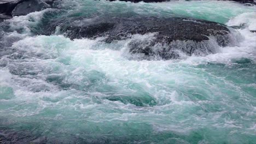
<path fill-rule="evenodd" d="M 73 17 L 51 21 L 40 28 L 43 33 L 37 34 L 53 34 L 56 27 L 71 39 L 105 37 L 107 43 L 131 39 L 129 52 L 132 55 L 142 54 L 139 56 L 141 59 L 178 58 L 176 50 L 186 55 L 215 53 L 214 46 L 226 46 L 232 40 L 229 28 L 220 23 L 183 17 Z M 154 38 L 132 38 L 135 34 L 148 33 L 154 33 Z"/>

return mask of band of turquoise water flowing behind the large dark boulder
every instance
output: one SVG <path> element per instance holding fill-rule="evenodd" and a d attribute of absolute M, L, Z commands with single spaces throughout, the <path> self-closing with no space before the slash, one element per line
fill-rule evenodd
<path fill-rule="evenodd" d="M 115 1 L 65 1 L 65 9 L 70 9 L 69 16 L 94 15 L 149 15 L 149 16 L 188 16 L 197 19 L 228 22 L 237 15 L 255 12 L 255 5 L 248 7 L 236 2 L 218 1 L 172 1 L 162 3 L 131 3 Z"/>

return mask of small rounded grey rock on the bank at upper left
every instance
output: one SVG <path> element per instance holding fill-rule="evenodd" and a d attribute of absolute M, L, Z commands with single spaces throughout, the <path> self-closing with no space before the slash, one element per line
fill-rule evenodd
<path fill-rule="evenodd" d="M 49 7 L 49 4 L 46 4 L 44 1 L 41 0 L 27 0 L 16 5 L 11 14 L 13 16 L 27 15 L 34 11 L 40 11 Z"/>

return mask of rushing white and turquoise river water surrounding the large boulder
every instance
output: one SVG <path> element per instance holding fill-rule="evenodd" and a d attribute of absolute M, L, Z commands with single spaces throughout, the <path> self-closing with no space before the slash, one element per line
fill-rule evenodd
<path fill-rule="evenodd" d="M 60 1 L 0 23 L 0 141 L 256 143 L 256 6 L 220 1 Z M 185 16 L 241 26 L 236 46 L 168 61 L 105 43 L 38 35 L 75 16 Z M 1 143 L 1 142 L 0 142 Z"/>

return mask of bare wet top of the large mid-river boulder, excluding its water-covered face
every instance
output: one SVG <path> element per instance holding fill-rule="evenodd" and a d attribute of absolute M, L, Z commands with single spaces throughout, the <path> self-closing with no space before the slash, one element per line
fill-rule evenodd
<path fill-rule="evenodd" d="M 63 22 L 63 21 L 62 21 Z M 121 40 L 131 34 L 158 34 L 158 41 L 170 43 L 173 40 L 208 40 L 210 35 L 226 35 L 229 29 L 222 24 L 182 17 L 81 17 L 59 23 L 61 31 L 71 39 L 105 37 L 107 42 Z M 219 45 L 226 45 L 220 41 Z"/>

